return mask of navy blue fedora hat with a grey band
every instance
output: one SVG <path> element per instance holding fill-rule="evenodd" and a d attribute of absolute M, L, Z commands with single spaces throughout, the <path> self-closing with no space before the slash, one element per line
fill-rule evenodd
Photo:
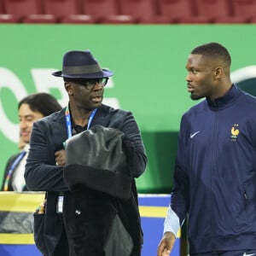
<path fill-rule="evenodd" d="M 63 56 L 62 70 L 52 73 L 55 77 L 67 79 L 104 79 L 113 73 L 100 67 L 90 50 L 71 50 Z"/>

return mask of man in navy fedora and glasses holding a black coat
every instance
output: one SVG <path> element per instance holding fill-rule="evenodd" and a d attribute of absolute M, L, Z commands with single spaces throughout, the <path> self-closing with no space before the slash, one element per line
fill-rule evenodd
<path fill-rule="evenodd" d="M 34 214 L 36 245 L 48 256 L 139 256 L 135 177 L 147 156 L 137 122 L 102 104 L 113 73 L 90 50 L 68 51 L 53 75 L 63 78 L 69 102 L 32 129 L 26 186 L 47 195 L 41 229 Z"/>

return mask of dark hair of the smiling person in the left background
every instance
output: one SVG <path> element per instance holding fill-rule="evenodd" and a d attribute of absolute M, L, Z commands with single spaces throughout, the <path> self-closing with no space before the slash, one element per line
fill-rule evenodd
<path fill-rule="evenodd" d="M 24 103 L 27 104 L 32 111 L 42 113 L 44 116 L 61 110 L 61 105 L 57 102 L 55 97 L 46 92 L 38 92 L 26 96 L 19 102 L 18 109 L 20 109 L 20 106 Z"/>

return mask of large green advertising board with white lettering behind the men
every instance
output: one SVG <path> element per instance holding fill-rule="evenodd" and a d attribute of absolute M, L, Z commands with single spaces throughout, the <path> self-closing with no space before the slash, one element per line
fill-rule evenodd
<path fill-rule="evenodd" d="M 27 94 L 46 91 L 61 105 L 67 94 L 62 56 L 90 49 L 113 71 L 105 103 L 134 113 L 148 154 L 143 193 L 169 193 L 182 114 L 195 102 L 186 90 L 185 64 L 191 49 L 215 41 L 232 56 L 232 71 L 255 65 L 254 25 L 0 25 L 0 182 L 9 156 L 17 153 L 17 104 Z"/>

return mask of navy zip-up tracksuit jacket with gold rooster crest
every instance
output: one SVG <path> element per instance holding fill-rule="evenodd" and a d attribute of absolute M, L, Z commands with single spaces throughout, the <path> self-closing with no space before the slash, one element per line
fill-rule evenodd
<path fill-rule="evenodd" d="M 256 249 L 256 98 L 233 85 L 183 114 L 172 190 L 190 253 Z"/>

